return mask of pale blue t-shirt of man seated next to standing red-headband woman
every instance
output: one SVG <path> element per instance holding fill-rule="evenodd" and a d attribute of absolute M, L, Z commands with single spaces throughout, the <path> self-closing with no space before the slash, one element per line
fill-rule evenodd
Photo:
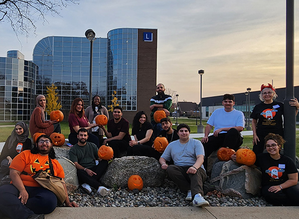
<path fill-rule="evenodd" d="M 233 109 L 230 112 L 224 110 L 224 108 L 216 109 L 209 120 L 207 121 L 209 125 L 214 126 L 214 130 L 219 128 L 229 128 L 235 126 L 245 127 L 245 117 L 243 112 Z M 221 131 L 220 133 L 225 133 L 227 131 Z"/>

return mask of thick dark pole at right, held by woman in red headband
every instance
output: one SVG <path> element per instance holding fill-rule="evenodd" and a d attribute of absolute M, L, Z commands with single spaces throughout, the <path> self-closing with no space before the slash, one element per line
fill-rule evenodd
<path fill-rule="evenodd" d="M 284 101 L 284 154 L 296 160 L 296 109 L 294 99 L 294 0 L 287 0 L 286 19 L 286 98 Z"/>

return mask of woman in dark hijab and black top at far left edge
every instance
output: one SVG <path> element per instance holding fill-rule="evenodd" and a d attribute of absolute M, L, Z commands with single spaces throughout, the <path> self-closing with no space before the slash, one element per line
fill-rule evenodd
<path fill-rule="evenodd" d="M 23 150 L 31 149 L 29 130 L 25 122 L 15 124 L 11 135 L 5 141 L 0 155 L 0 179 L 9 174 L 9 165 L 12 159 Z"/>

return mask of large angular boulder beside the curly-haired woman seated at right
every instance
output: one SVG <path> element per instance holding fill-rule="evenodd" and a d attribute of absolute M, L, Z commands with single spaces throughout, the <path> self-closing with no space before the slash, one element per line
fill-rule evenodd
<path fill-rule="evenodd" d="M 249 199 L 260 195 L 262 173 L 256 168 L 240 165 L 234 161 L 218 162 L 213 168 L 210 183 L 224 195 Z M 222 168 L 221 168 L 222 166 Z M 219 173 L 219 169 L 221 172 Z M 219 176 L 216 176 L 219 173 Z"/>

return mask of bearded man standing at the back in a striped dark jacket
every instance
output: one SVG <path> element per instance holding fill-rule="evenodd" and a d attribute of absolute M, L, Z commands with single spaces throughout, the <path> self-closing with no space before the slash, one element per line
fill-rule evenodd
<path fill-rule="evenodd" d="M 164 110 L 166 113 L 166 117 L 169 116 L 169 110 L 172 105 L 172 98 L 170 95 L 165 95 L 165 87 L 163 84 L 157 84 L 156 92 L 158 93 L 156 96 L 150 98 L 150 121 L 153 126 L 153 134 L 154 137 L 157 137 L 160 131 L 162 130 L 162 126 L 160 123 L 156 123 L 153 119 L 153 113 L 156 110 Z"/>

